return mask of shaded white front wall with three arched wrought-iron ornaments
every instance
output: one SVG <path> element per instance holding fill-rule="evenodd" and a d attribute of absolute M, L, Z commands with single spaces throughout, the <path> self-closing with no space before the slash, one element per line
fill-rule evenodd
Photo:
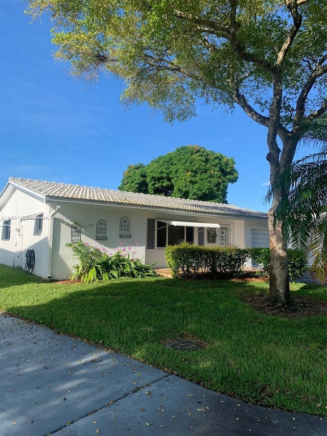
<path fill-rule="evenodd" d="M 136 251 L 135 257 L 145 259 L 146 214 L 142 209 L 130 209 L 114 206 L 61 204 L 60 215 L 64 218 L 54 221 L 51 276 L 57 280 L 67 279 L 72 275 L 72 266 L 78 263 L 73 256 L 73 250 L 66 247 L 71 242 L 71 226 L 78 222 L 81 226 L 81 239 L 92 246 L 103 248 L 108 254 L 114 249 L 131 247 Z M 120 238 L 120 219 L 130 220 L 131 238 Z M 103 219 L 107 223 L 107 240 L 96 240 L 96 223 Z M 138 244 L 138 246 L 136 246 Z"/>

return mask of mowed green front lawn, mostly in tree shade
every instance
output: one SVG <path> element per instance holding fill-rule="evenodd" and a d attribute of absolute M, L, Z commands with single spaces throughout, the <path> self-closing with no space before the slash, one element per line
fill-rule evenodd
<path fill-rule="evenodd" d="M 326 298 L 324 287 L 291 286 Z M 243 301 L 267 291 L 259 282 L 161 278 L 57 284 L 0 265 L 2 311 L 243 401 L 326 415 L 326 317 L 282 319 Z M 164 344 L 183 336 L 206 348 L 175 351 Z"/>

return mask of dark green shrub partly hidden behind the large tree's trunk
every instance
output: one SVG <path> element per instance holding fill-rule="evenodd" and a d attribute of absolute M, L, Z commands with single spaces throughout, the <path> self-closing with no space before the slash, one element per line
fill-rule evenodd
<path fill-rule="evenodd" d="M 269 278 L 270 248 L 249 248 L 252 262 L 257 264 L 261 271 L 258 275 Z M 287 250 L 288 272 L 290 281 L 302 276 L 307 265 L 307 257 L 299 250 Z"/>

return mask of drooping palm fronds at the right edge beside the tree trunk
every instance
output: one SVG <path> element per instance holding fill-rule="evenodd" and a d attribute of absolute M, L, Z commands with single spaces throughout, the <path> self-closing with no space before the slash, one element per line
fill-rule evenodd
<path fill-rule="evenodd" d="M 327 116 L 315 120 L 299 120 L 302 142 L 316 141 L 320 151 L 296 160 L 273 183 L 265 200 L 276 191 L 289 189 L 274 213 L 282 222 L 284 237 L 293 248 L 312 256 L 312 272 L 320 283 L 327 276 Z"/>

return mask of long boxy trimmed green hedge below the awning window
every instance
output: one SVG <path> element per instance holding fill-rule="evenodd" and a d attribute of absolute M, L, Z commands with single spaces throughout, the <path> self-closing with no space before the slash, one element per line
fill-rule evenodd
<path fill-rule="evenodd" d="M 203 247 L 182 243 L 167 246 L 165 256 L 174 277 L 193 280 L 200 273 L 209 276 L 240 276 L 249 253 L 245 248 Z"/>

